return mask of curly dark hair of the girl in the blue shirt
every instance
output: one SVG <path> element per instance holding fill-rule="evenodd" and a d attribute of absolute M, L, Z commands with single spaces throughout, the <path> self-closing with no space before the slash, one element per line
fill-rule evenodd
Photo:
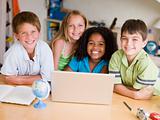
<path fill-rule="evenodd" d="M 87 53 L 87 44 L 89 37 L 94 34 L 99 33 L 102 35 L 103 39 L 105 40 L 105 54 L 102 57 L 102 59 L 109 61 L 112 54 L 118 50 L 117 46 L 117 40 L 114 37 L 114 34 L 111 30 L 109 30 L 107 27 L 91 27 L 88 28 L 83 35 L 81 36 L 79 40 L 79 46 L 77 51 L 75 52 L 75 57 L 80 61 L 84 57 L 88 56 Z"/>

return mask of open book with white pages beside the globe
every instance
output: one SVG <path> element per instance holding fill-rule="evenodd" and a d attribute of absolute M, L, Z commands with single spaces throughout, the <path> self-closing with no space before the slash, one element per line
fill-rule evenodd
<path fill-rule="evenodd" d="M 0 102 L 30 105 L 35 98 L 29 86 L 0 85 Z"/>

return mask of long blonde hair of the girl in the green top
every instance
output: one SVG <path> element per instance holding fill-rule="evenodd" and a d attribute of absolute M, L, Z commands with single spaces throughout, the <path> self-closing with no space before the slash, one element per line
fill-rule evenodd
<path fill-rule="evenodd" d="M 82 18 L 84 19 L 84 22 L 85 22 L 85 29 L 87 28 L 87 26 L 88 26 L 87 18 L 80 11 L 72 10 L 63 19 L 59 31 L 57 32 L 56 36 L 54 37 L 54 39 L 51 42 L 51 47 L 53 47 L 54 42 L 58 39 L 64 39 L 65 41 L 69 41 L 69 42 L 71 41 L 69 36 L 68 36 L 67 28 L 68 28 L 68 21 L 69 21 L 70 17 L 73 16 L 73 15 L 82 16 Z"/>

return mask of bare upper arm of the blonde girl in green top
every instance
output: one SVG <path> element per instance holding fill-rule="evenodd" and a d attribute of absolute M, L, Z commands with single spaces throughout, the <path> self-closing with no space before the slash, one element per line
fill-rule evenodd
<path fill-rule="evenodd" d="M 60 39 L 55 41 L 54 46 L 52 45 L 54 70 L 58 70 L 59 58 L 61 56 L 64 44 L 64 40 Z"/>

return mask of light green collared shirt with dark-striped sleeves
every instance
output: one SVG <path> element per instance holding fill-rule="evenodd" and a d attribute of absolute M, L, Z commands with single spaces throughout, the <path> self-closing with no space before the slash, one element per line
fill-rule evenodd
<path fill-rule="evenodd" d="M 141 89 L 155 85 L 159 70 L 144 50 L 138 53 L 130 65 L 124 52 L 118 50 L 110 60 L 109 72 L 115 74 L 115 84 Z M 160 90 L 160 86 L 156 89 Z"/>

